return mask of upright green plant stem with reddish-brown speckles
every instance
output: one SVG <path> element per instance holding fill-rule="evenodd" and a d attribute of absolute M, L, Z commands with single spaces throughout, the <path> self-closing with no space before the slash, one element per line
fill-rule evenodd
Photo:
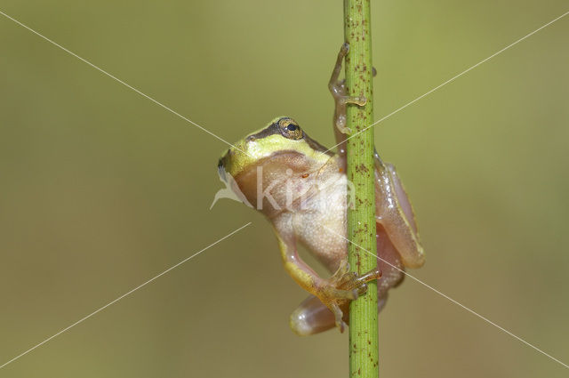
<path fill-rule="evenodd" d="M 349 43 L 346 86 L 350 96 L 365 96 L 364 107 L 348 106 L 347 125 L 352 134 L 373 123 L 373 65 L 370 0 L 344 1 L 344 35 Z M 373 127 L 348 141 L 348 179 L 354 184 L 354 206 L 348 211 L 349 264 L 359 274 L 377 265 Z M 350 377 L 379 376 L 377 283 L 349 305 Z"/>

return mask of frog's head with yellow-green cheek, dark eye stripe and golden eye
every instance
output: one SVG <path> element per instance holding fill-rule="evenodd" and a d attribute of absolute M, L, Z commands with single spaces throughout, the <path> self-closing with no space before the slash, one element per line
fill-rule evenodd
<path fill-rule="evenodd" d="M 279 202 L 285 195 L 280 191 L 284 181 L 309 175 L 332 156 L 332 152 L 312 140 L 293 118 L 278 117 L 228 149 L 220 158 L 218 172 L 221 180 L 231 184 L 234 191 L 236 185 L 252 205 L 257 203 L 257 192 L 269 187 Z M 259 174 L 262 177 L 258 178 Z"/>

